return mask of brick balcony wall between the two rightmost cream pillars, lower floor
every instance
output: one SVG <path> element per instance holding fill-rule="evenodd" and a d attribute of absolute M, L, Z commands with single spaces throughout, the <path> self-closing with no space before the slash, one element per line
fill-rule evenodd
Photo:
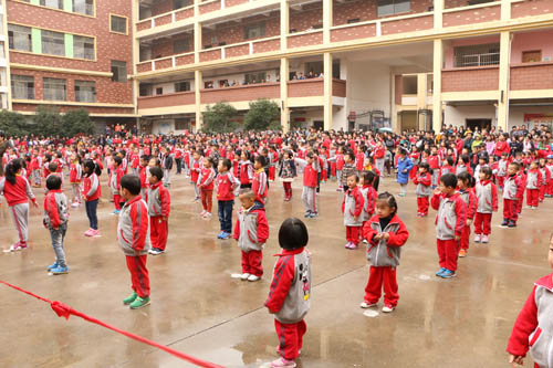
<path fill-rule="evenodd" d="M 441 72 L 442 92 L 497 91 L 499 66 L 467 67 Z"/>

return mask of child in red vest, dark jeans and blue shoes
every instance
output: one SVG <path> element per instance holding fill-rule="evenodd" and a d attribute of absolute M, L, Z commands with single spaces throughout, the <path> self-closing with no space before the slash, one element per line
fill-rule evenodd
<path fill-rule="evenodd" d="M 217 239 L 226 240 L 232 232 L 232 208 L 234 207 L 234 192 L 240 188 L 240 182 L 230 172 L 232 164 L 228 158 L 219 160 L 216 179 L 217 201 L 219 208 L 219 222 L 221 233 Z"/>

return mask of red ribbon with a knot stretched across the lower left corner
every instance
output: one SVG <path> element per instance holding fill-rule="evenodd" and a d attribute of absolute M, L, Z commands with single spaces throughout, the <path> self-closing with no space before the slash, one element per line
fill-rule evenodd
<path fill-rule="evenodd" d="M 189 361 L 189 362 L 191 362 L 191 364 L 194 364 L 194 365 L 196 365 L 196 366 L 198 366 L 198 367 L 205 367 L 205 368 L 223 368 L 222 366 L 216 365 L 216 364 L 213 364 L 213 362 L 209 362 L 209 361 L 204 361 L 204 360 L 200 360 L 200 359 L 198 359 L 198 358 L 195 358 L 195 357 L 191 357 L 191 356 L 186 355 L 186 354 L 184 354 L 184 353 L 180 353 L 180 351 L 177 351 L 177 350 L 175 350 L 175 349 L 171 349 L 171 348 L 169 348 L 169 347 L 167 347 L 167 346 L 165 346 L 165 345 L 159 345 L 159 344 L 157 344 L 157 343 L 155 343 L 155 341 L 152 341 L 152 340 L 148 340 L 147 338 L 144 338 L 144 337 L 142 337 L 142 336 L 138 336 L 138 335 L 135 335 L 135 334 L 131 334 L 131 333 L 128 333 L 128 332 L 126 332 L 126 330 L 123 330 L 123 329 L 119 329 L 119 328 L 117 328 L 117 327 L 111 326 L 111 325 L 108 325 L 108 324 L 106 324 L 106 323 L 103 323 L 103 322 L 102 322 L 102 320 L 100 320 L 100 319 L 93 318 L 93 317 L 91 317 L 91 316 L 88 316 L 88 315 L 86 315 L 86 314 L 84 314 L 84 313 L 81 313 L 81 312 L 79 312 L 79 311 L 75 311 L 75 309 L 73 309 L 72 307 L 70 307 L 69 305 L 65 305 L 65 304 L 63 304 L 63 303 L 61 303 L 61 302 L 58 302 L 58 301 L 55 301 L 55 302 L 49 301 L 49 299 L 46 299 L 45 297 L 39 296 L 39 295 L 36 295 L 36 294 L 33 294 L 33 293 L 31 293 L 31 292 L 29 292 L 29 291 L 27 291 L 27 290 L 23 290 L 23 288 L 21 288 L 21 287 L 18 287 L 18 286 L 15 286 L 15 285 L 12 285 L 12 284 L 10 284 L 10 283 L 7 283 L 7 282 L 4 282 L 4 281 L 2 281 L 2 280 L 0 280 L 0 284 L 4 284 L 6 286 L 9 286 L 9 287 L 11 287 L 11 288 L 14 288 L 14 290 L 17 290 L 17 291 L 21 292 L 21 293 L 24 293 L 24 294 L 28 294 L 28 295 L 30 295 L 30 296 L 32 296 L 32 297 L 35 297 L 35 298 L 38 298 L 39 301 L 42 301 L 42 302 L 45 302 L 45 303 L 50 304 L 50 306 L 51 306 L 51 307 L 52 307 L 52 309 L 55 312 L 55 314 L 58 315 L 58 317 L 64 317 L 65 319 L 69 319 L 69 317 L 70 317 L 71 315 L 74 315 L 74 316 L 76 316 L 76 317 L 81 317 L 81 318 L 83 318 L 84 320 L 87 320 L 87 322 L 90 322 L 90 323 L 93 323 L 93 324 L 100 325 L 100 326 L 102 326 L 102 327 L 108 328 L 108 329 L 111 329 L 111 330 L 114 330 L 114 332 L 116 332 L 117 334 L 121 334 L 121 335 L 127 336 L 127 337 L 129 337 L 129 338 L 132 338 L 132 339 L 135 339 L 135 340 L 137 340 L 137 341 L 144 343 L 144 344 L 147 344 L 147 345 L 153 346 L 153 347 L 156 347 L 156 348 L 158 348 L 158 349 L 161 349 L 161 350 L 164 350 L 164 351 L 166 351 L 166 353 L 169 353 L 170 355 L 176 356 L 177 358 L 180 358 L 180 359 L 187 360 L 187 361 Z"/>

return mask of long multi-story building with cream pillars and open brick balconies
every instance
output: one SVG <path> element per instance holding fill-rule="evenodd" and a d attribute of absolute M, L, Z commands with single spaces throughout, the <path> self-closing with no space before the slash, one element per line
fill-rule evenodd
<path fill-rule="evenodd" d="M 135 0 L 133 19 L 150 132 L 257 98 L 285 128 L 553 119 L 553 0 Z"/>

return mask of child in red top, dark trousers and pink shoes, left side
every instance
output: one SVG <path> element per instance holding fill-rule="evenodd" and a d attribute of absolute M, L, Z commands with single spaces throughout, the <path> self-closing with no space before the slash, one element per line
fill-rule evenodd
<path fill-rule="evenodd" d="M 91 228 L 85 231 L 85 236 L 100 236 L 98 230 L 98 199 L 102 197 L 102 187 L 100 186 L 98 176 L 102 174 L 100 167 L 91 159 L 83 162 L 83 198 L 86 208 L 86 217 Z"/>

